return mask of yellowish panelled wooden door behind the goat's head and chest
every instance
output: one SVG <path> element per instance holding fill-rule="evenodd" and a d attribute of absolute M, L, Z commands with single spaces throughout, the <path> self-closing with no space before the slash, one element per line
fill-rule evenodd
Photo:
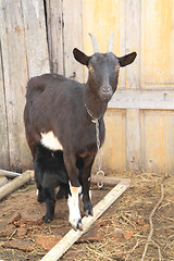
<path fill-rule="evenodd" d="M 92 32 L 102 51 L 114 32 L 114 53 L 137 51 L 121 69 L 119 89 L 105 115 L 105 171 L 174 173 L 174 1 L 84 1 L 84 49 Z M 95 25 L 95 26 L 94 26 Z"/>

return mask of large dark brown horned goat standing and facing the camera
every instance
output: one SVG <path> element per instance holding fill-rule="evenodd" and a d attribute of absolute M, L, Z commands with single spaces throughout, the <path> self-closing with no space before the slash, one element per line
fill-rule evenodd
<path fill-rule="evenodd" d="M 91 38 L 95 42 L 94 36 Z M 107 53 L 100 53 L 97 50 L 95 54 L 87 57 L 75 48 L 73 53 L 79 63 L 88 67 L 87 83 L 83 85 L 57 74 L 45 74 L 30 78 L 27 84 L 24 120 L 27 142 L 35 162 L 38 162 L 39 151 L 42 151 L 38 145 L 50 150 L 48 152 L 50 163 L 51 153 L 63 150 L 65 167 L 63 162 L 60 165 L 58 163 L 57 174 L 59 174 L 57 177 L 53 174 L 52 177 L 55 178 L 55 183 L 58 181 L 60 185 L 67 186 L 67 172 L 71 191 L 67 199 L 69 220 L 74 228 L 82 228 L 78 207 L 80 186 L 86 215 L 92 215 L 89 186 L 90 171 L 97 153 L 97 141 L 96 126 L 91 120 L 98 119 L 99 121 L 100 142 L 102 145 L 104 140 L 103 114 L 108 102 L 116 90 L 119 69 L 130 64 L 136 58 L 136 52 L 117 58 L 112 50 Z M 59 157 L 54 157 L 58 162 Z M 78 161 L 80 162 L 79 166 Z M 54 198 L 50 190 L 57 184 L 53 187 L 50 185 L 48 192 L 49 178 L 51 178 L 48 174 L 50 169 L 47 169 L 47 164 L 44 164 L 40 170 L 38 166 L 40 167 L 39 164 L 35 163 L 36 182 L 39 183 L 39 186 L 41 185 L 38 188 L 40 191 L 41 189 L 45 191 L 47 202 L 46 221 L 52 220 Z M 40 173 L 39 176 L 47 173 L 46 182 L 40 182 L 42 179 L 39 181 L 37 173 Z"/>

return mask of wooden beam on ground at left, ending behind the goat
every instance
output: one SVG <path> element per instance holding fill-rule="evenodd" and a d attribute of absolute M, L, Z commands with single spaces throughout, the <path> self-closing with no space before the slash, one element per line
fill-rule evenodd
<path fill-rule="evenodd" d="M 33 171 L 26 171 L 20 176 L 15 177 L 12 182 L 5 184 L 3 187 L 0 188 L 0 200 L 24 185 L 33 177 Z"/>

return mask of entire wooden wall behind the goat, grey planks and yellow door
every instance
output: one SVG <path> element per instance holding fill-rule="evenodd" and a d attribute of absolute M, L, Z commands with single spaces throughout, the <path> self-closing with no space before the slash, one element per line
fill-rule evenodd
<path fill-rule="evenodd" d="M 105 171 L 174 171 L 174 0 L 1 0 L 0 167 L 27 169 L 23 109 L 30 76 L 49 71 L 85 80 L 77 47 L 101 52 L 114 33 L 114 53 L 138 53 L 121 69 L 105 115 Z"/>

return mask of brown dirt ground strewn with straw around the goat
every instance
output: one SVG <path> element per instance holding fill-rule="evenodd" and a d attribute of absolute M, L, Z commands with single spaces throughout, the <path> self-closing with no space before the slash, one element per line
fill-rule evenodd
<path fill-rule="evenodd" d="M 130 187 L 62 261 L 174 261 L 174 176 L 122 173 L 122 177 L 132 179 Z M 109 189 L 92 187 L 94 206 Z M 70 231 L 65 199 L 57 201 L 53 222 L 45 224 L 44 214 L 35 184 L 0 202 L 0 260 L 38 261 Z"/>

